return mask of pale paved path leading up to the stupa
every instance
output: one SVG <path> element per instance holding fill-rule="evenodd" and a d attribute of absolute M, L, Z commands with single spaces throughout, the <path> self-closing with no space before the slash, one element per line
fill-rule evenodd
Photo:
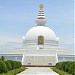
<path fill-rule="evenodd" d="M 59 75 L 49 67 L 28 67 L 27 70 L 17 75 Z"/>

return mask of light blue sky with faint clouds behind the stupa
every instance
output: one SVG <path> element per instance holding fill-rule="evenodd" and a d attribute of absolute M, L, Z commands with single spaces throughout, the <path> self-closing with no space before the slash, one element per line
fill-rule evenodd
<path fill-rule="evenodd" d="M 36 26 L 39 5 L 44 5 L 46 26 L 59 37 L 59 45 L 74 53 L 74 0 L 0 0 L 0 47 L 22 43 Z"/>

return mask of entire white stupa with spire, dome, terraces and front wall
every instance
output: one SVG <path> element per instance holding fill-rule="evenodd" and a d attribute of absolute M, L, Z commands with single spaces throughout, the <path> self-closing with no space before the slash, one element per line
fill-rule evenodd
<path fill-rule="evenodd" d="M 23 54 L 23 65 L 55 65 L 58 62 L 57 55 L 70 54 L 59 47 L 59 37 L 47 27 L 43 5 L 36 19 L 37 26 L 31 28 L 23 36 L 23 48 L 17 48 L 8 54 Z"/>

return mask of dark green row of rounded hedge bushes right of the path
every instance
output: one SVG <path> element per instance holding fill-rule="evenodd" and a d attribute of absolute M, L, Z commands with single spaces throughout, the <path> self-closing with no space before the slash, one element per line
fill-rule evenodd
<path fill-rule="evenodd" d="M 58 68 L 59 70 L 75 75 L 75 61 L 59 62 L 56 64 L 55 67 Z"/>

